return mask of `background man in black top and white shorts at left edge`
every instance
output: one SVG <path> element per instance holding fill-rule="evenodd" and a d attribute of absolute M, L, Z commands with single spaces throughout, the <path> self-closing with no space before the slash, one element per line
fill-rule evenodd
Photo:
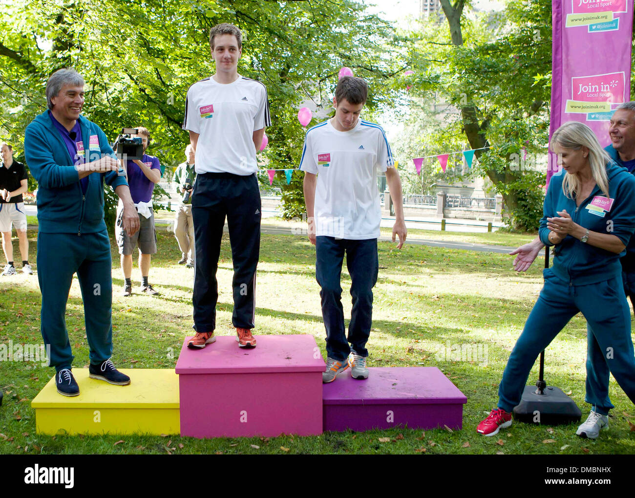
<path fill-rule="evenodd" d="M 27 169 L 22 163 L 13 160 L 13 147 L 0 144 L 2 166 L 0 167 L 0 231 L 2 232 L 2 248 L 6 256 L 3 276 L 17 274 L 13 264 L 13 242 L 11 241 L 12 225 L 18 233 L 20 255 L 22 255 L 23 273 L 33 274 L 29 264 L 29 239 L 27 239 L 27 215 L 24 213 L 22 194 L 29 188 L 27 185 Z"/>

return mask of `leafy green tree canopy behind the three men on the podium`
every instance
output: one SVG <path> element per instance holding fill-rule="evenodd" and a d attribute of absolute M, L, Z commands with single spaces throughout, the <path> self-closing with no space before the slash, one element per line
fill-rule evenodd
<path fill-rule="evenodd" d="M 269 91 L 270 145 L 261 154 L 269 168 L 297 167 L 304 140 L 298 104 L 307 96 L 322 104 L 342 65 L 368 79 L 371 109 L 391 102 L 395 92 L 383 82 L 403 69 L 391 57 L 402 39 L 352 0 L 10 0 L 6 9 L 0 133 L 17 145 L 45 109 L 48 76 L 72 65 L 86 80 L 84 114 L 112 140 L 123 126 L 146 126 L 152 153 L 176 165 L 189 141 L 181 129 L 185 94 L 213 72 L 208 29 L 220 22 L 243 30 L 239 73 Z M 304 210 L 301 175 L 294 178 L 283 186 L 287 215 Z"/>

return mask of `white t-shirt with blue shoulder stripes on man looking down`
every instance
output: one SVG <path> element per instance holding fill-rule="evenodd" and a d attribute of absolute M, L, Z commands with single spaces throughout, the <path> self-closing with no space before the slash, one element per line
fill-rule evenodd
<path fill-rule="evenodd" d="M 394 168 L 394 160 L 378 124 L 359 119 L 352 130 L 337 131 L 329 120 L 310 128 L 300 170 L 318 175 L 316 236 L 378 238 L 382 209 L 377 170 L 387 168 Z"/>

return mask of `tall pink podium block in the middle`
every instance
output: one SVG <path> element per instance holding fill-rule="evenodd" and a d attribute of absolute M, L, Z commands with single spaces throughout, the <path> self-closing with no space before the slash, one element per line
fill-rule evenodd
<path fill-rule="evenodd" d="M 181 435 L 194 438 L 322 433 L 324 360 L 312 335 L 257 335 L 257 347 L 218 337 L 177 361 Z"/>

